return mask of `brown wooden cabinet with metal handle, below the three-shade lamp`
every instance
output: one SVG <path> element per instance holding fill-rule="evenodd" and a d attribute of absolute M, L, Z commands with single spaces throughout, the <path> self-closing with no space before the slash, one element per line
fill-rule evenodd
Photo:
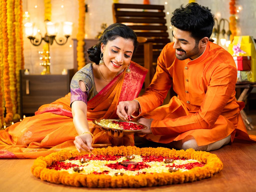
<path fill-rule="evenodd" d="M 51 103 L 68 94 L 73 75 L 73 69 L 68 70 L 67 75 L 25 75 L 24 70 L 20 70 L 21 116 L 34 115 L 41 105 Z"/>

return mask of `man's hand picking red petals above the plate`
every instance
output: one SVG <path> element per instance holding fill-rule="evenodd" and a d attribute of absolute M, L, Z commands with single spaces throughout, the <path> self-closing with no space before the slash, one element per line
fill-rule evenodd
<path fill-rule="evenodd" d="M 127 120 L 128 116 L 131 116 L 134 112 L 139 112 L 138 101 L 120 101 L 117 106 L 116 114 L 122 120 Z"/>

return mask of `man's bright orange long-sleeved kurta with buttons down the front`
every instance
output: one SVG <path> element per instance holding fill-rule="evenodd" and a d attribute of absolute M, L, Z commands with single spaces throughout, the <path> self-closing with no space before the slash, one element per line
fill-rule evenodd
<path fill-rule="evenodd" d="M 232 56 L 208 42 L 197 59 L 178 60 L 173 45 L 169 43 L 164 47 L 152 83 L 145 94 L 136 99 L 141 106 L 140 115 L 154 119 L 153 135 L 146 138 L 169 143 L 192 135 L 199 146 L 230 134 L 231 141 L 235 135 L 250 140 L 240 115 L 244 103 L 235 98 L 237 68 Z M 178 97 L 158 107 L 172 84 Z M 250 137 L 256 140 L 256 136 Z"/>

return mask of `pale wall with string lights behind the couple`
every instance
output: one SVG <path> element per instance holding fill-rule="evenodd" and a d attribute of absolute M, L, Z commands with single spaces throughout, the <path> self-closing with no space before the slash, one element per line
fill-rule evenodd
<path fill-rule="evenodd" d="M 72 38 L 76 38 L 78 31 L 78 1 L 77 0 L 51 0 L 52 2 L 52 22 L 70 21 L 73 22 L 73 34 L 68 39 L 67 44 L 59 46 L 56 42 L 50 46 L 51 56 L 51 73 L 61 73 L 63 68 L 71 69 L 73 67 L 73 45 Z M 99 31 L 101 31 L 101 24 L 107 23 L 108 25 L 113 23 L 112 16 L 112 0 L 86 0 L 86 4 L 90 5 L 88 13 L 86 13 L 86 34 L 87 38 L 94 38 Z M 170 26 L 170 15 L 175 8 L 180 4 L 187 4 L 188 0 L 151 0 L 151 4 L 165 5 L 165 13 L 170 14 L 166 16 L 167 25 Z M 212 13 L 218 18 L 226 18 L 229 20 L 229 1 L 228 0 L 198 0 L 199 4 L 208 6 Z M 142 4 L 143 0 L 119 0 L 119 3 L 131 3 Z M 242 11 L 237 14 L 238 29 L 241 35 L 250 35 L 256 38 L 256 0 L 237 0 L 237 4 L 242 6 Z M 35 8 L 37 5 L 37 8 Z M 64 7 L 61 8 L 61 5 Z M 24 0 L 23 11 L 30 13 L 31 22 L 35 22 L 38 28 L 41 30 L 43 36 L 44 29 L 44 1 L 43 0 Z M 169 29 L 169 37 L 171 37 L 172 29 Z M 43 69 L 39 66 L 40 55 L 38 51 L 42 50 L 42 45 L 33 46 L 29 39 L 24 34 L 24 57 L 25 68 L 29 68 L 31 73 L 40 73 Z"/>

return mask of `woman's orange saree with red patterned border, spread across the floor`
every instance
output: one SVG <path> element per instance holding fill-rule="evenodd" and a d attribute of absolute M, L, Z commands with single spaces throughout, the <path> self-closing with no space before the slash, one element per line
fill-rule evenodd
<path fill-rule="evenodd" d="M 111 146 L 111 137 L 92 123 L 94 119 L 117 119 L 120 101 L 138 96 L 147 69 L 131 61 L 131 73 L 122 72 L 87 103 L 89 129 L 94 135 L 92 147 Z M 0 158 L 36 158 L 61 149 L 73 150 L 77 136 L 70 107 L 70 93 L 42 105 L 35 116 L 26 117 L 0 131 Z M 133 135 L 125 135 L 119 145 L 134 145 Z"/>

